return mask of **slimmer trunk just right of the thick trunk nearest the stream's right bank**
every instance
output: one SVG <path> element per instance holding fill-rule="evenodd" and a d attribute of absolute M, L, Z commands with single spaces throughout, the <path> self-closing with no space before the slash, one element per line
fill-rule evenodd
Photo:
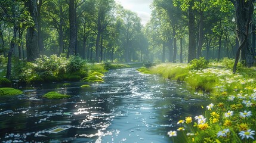
<path fill-rule="evenodd" d="M 202 2 L 202 0 L 201 0 Z M 199 39 L 198 39 L 198 58 L 202 57 L 202 46 L 203 46 L 203 11 L 200 11 L 200 23 L 199 23 Z"/>

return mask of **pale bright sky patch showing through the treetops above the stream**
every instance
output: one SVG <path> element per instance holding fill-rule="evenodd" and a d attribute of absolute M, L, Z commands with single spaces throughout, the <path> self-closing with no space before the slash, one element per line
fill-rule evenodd
<path fill-rule="evenodd" d="M 144 26 L 150 20 L 150 4 L 153 0 L 115 0 L 121 4 L 125 9 L 134 11 L 141 18 L 141 24 Z"/>

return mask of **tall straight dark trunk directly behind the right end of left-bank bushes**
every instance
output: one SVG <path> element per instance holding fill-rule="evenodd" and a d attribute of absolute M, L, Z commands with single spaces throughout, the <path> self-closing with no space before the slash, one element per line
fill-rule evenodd
<path fill-rule="evenodd" d="M 75 21 L 75 2 L 74 0 L 69 0 L 69 50 L 67 51 L 67 57 L 70 55 L 75 55 L 76 46 L 76 21 Z"/>

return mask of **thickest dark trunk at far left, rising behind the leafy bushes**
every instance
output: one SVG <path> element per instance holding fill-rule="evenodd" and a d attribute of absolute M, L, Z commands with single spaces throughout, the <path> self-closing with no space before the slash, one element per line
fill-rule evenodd
<path fill-rule="evenodd" d="M 36 7 L 36 0 L 27 0 L 25 5 L 29 10 L 30 16 L 33 18 L 34 25 L 27 29 L 27 61 L 34 61 L 39 58 L 38 48 L 38 10 Z"/>

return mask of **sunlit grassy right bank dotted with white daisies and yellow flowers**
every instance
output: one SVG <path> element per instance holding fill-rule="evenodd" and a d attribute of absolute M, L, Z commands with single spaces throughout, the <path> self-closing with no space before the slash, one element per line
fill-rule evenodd
<path fill-rule="evenodd" d="M 203 62 L 150 68 L 168 79 L 186 82 L 192 91 L 207 92 L 212 100 L 202 107 L 205 111 L 201 115 L 177 121 L 178 128 L 168 135 L 175 142 L 255 142 L 256 69 L 239 66 L 233 74 L 232 60 Z"/>

